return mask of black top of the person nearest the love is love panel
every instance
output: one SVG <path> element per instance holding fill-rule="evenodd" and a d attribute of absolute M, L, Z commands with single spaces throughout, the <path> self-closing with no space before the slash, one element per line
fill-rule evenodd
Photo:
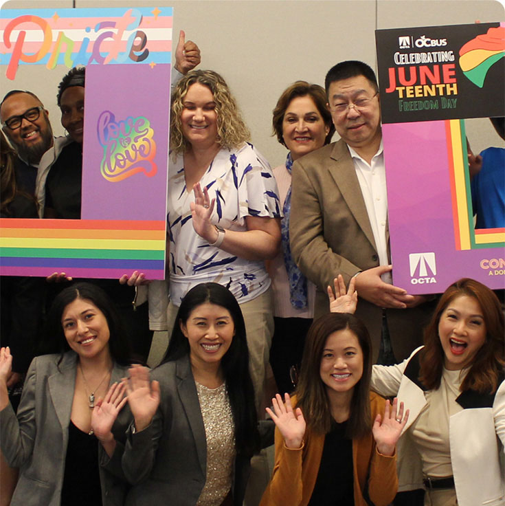
<path fill-rule="evenodd" d="M 45 207 L 58 219 L 80 219 L 82 144 L 71 142 L 52 165 L 45 181 Z"/>

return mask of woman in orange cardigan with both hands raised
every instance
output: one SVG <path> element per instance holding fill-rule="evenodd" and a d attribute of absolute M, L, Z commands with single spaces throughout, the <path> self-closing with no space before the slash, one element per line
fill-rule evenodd
<path fill-rule="evenodd" d="M 308 331 L 295 397 L 272 399 L 276 462 L 262 506 L 386 506 L 397 487 L 395 445 L 408 418 L 370 393 L 370 336 L 351 314 Z M 293 408 L 294 406 L 294 408 Z"/>

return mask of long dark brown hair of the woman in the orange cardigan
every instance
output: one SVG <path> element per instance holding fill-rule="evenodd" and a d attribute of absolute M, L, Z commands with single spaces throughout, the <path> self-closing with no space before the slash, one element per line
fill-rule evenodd
<path fill-rule="evenodd" d="M 302 409 L 311 430 L 319 434 L 329 432 L 333 417 L 326 385 L 321 380 L 319 370 L 326 340 L 330 334 L 345 329 L 355 334 L 361 351 L 363 351 L 363 375 L 352 393 L 346 432 L 347 437 L 355 439 L 368 434 L 372 428 L 372 420 L 370 419 L 372 344 L 368 330 L 356 316 L 346 313 L 330 313 L 313 322 L 305 340 L 300 379 L 295 393 L 297 406 Z"/>

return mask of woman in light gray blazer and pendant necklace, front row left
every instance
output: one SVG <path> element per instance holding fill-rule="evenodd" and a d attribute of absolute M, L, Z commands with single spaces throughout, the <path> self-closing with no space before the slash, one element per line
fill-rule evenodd
<path fill-rule="evenodd" d="M 20 467 L 11 505 L 121 506 L 126 482 L 99 465 L 120 458 L 131 420 L 118 383 L 128 364 L 120 320 L 102 289 L 77 283 L 56 297 L 47 323 L 60 353 L 33 360 L 17 417 L 6 386 L 12 355 L 0 349 L 0 445 Z"/>

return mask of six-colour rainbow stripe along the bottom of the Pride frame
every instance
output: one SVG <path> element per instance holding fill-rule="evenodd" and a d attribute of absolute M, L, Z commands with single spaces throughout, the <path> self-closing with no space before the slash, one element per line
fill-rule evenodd
<path fill-rule="evenodd" d="M 0 219 L 0 274 L 165 277 L 165 221 Z"/>

